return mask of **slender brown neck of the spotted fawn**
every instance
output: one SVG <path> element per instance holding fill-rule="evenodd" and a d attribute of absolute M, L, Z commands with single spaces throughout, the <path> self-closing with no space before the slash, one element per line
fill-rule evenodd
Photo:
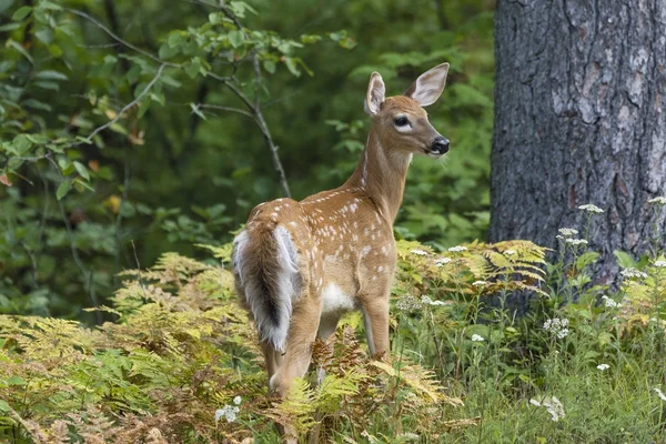
<path fill-rule="evenodd" d="M 385 143 L 372 125 L 365 150 L 345 186 L 364 190 L 393 225 L 403 200 L 412 154 L 400 149 L 389 150 Z"/>

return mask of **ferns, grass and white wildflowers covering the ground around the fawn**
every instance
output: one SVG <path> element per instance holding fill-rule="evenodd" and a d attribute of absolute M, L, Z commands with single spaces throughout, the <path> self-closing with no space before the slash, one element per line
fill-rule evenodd
<path fill-rule="evenodd" d="M 666 258 L 615 252 L 618 290 L 594 284 L 603 210 L 581 211 L 553 263 L 527 241 L 400 241 L 390 361 L 349 315 L 333 354 L 314 346 L 323 383 L 310 372 L 284 401 L 266 396 L 230 245 L 123 272 L 101 326 L 0 316 L 0 441 L 271 443 L 279 423 L 339 443 L 664 442 Z"/>

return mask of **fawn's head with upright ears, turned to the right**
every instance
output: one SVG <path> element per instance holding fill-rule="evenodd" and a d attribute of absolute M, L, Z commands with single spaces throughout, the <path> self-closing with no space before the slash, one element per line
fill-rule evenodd
<path fill-rule="evenodd" d="M 385 98 L 384 81 L 379 72 L 370 77 L 365 95 L 365 112 L 372 117 L 373 127 L 385 150 L 438 158 L 448 151 L 448 140 L 427 120 L 423 107 L 437 101 L 444 85 L 448 63 L 442 63 L 418 77 L 403 95 Z"/>

